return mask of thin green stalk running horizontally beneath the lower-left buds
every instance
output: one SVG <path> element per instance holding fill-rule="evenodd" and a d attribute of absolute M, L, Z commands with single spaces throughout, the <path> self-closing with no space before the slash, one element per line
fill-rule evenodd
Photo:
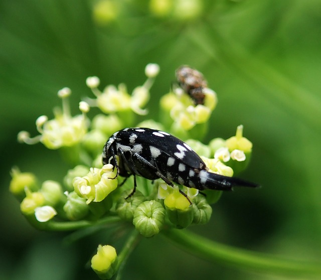
<path fill-rule="evenodd" d="M 99 219 L 97 221 L 68 221 L 68 222 L 58 222 L 51 220 L 46 223 L 40 223 L 36 219 L 29 221 L 32 223 L 33 226 L 35 226 L 37 229 L 40 230 L 48 230 L 48 231 L 71 231 L 71 230 L 77 230 L 89 226 L 94 225 L 102 225 L 102 224 L 112 224 L 117 223 L 121 221 L 121 219 L 118 216 L 109 216 L 103 219 Z"/>

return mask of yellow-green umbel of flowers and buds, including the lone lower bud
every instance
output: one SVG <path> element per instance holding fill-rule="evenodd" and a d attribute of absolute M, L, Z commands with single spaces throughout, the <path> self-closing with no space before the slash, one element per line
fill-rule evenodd
<path fill-rule="evenodd" d="M 40 116 L 36 120 L 39 135 L 30 137 L 26 131 L 18 140 L 26 144 L 42 143 L 48 149 L 59 149 L 74 168 L 66 172 L 61 182 L 38 182 L 33 173 L 12 170 L 10 191 L 20 201 L 22 213 L 36 227 L 49 229 L 72 221 L 70 230 L 77 229 L 75 221 L 126 222 L 135 232 L 151 237 L 167 228 L 183 229 L 192 224 L 207 223 L 212 214 L 211 204 L 221 191 L 204 191 L 184 186 L 167 185 L 163 180 L 154 182 L 137 178 L 137 190 L 132 194 L 132 181 L 117 176 L 111 164 L 102 164 L 102 148 L 106 139 L 116 130 L 126 126 L 162 129 L 183 138 L 202 157 L 210 172 L 225 176 L 242 171 L 250 158 L 251 142 L 243 137 L 243 126 L 228 139 L 215 138 L 208 145 L 200 142 L 204 125 L 216 106 L 216 93 L 207 89 L 204 104 L 195 104 L 191 97 L 177 85 L 161 98 L 161 121 L 144 120 L 137 123 L 136 115 L 146 115 L 144 108 L 149 91 L 158 75 L 157 64 L 148 64 L 143 85 L 129 94 L 124 84 L 98 89 L 98 77 L 89 77 L 87 86 L 95 98 L 79 103 L 81 114 L 70 114 L 69 88 L 59 90 L 62 109 L 54 109 L 54 118 Z M 86 116 L 90 107 L 102 113 L 91 121 Z M 199 138 L 192 139 L 192 135 Z M 44 161 L 44 164 L 46 162 Z M 48 164 L 50 164 L 48 162 Z M 184 193 L 185 195 L 183 195 Z M 82 227 L 81 224 L 80 227 Z M 130 227 L 129 227 L 130 228 Z M 110 245 L 99 245 L 92 258 L 92 268 L 101 278 L 110 278 L 119 268 L 121 259 Z"/>

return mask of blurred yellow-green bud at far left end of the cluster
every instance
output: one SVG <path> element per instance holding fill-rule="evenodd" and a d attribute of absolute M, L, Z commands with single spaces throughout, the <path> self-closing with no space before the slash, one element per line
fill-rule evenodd
<path fill-rule="evenodd" d="M 25 188 L 30 191 L 38 190 L 37 178 L 34 174 L 20 172 L 18 168 L 13 168 L 11 170 L 11 176 L 12 179 L 9 185 L 9 190 L 17 198 L 23 199 L 26 196 Z"/>

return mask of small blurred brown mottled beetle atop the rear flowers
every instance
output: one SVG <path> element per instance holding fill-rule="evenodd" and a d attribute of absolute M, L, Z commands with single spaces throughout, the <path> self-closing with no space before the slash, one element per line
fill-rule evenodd
<path fill-rule="evenodd" d="M 193 99 L 195 105 L 204 104 L 204 88 L 207 88 L 207 81 L 201 72 L 183 65 L 176 70 L 176 79 L 180 87 Z"/>

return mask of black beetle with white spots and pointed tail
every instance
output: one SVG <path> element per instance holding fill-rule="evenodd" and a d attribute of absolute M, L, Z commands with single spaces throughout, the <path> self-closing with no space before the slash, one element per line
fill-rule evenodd
<path fill-rule="evenodd" d="M 136 189 L 136 175 L 149 180 L 161 178 L 170 186 L 175 183 L 198 190 L 258 186 L 209 172 L 186 143 L 167 132 L 150 128 L 125 128 L 111 135 L 103 149 L 103 164 L 108 163 L 117 169 L 115 178 L 134 176 L 132 194 Z"/>

